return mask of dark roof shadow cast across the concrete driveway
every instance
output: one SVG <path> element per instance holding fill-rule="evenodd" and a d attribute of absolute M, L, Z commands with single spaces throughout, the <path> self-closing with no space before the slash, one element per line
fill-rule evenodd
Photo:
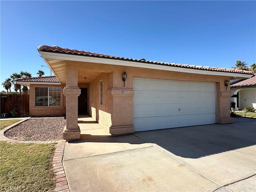
<path fill-rule="evenodd" d="M 200 158 L 255 145 L 255 130 L 255 119 L 234 118 L 233 124 L 210 124 L 135 132 L 134 135 L 140 139 L 132 135 L 116 136 L 112 142 L 152 143 L 180 157 Z M 105 137 L 112 136 L 82 134 L 81 132 L 81 139 L 70 143 L 110 142 L 110 140 L 98 140 L 98 138 Z"/>

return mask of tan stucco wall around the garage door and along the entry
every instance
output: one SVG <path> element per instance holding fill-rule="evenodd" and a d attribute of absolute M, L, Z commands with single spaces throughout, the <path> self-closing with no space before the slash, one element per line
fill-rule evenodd
<path fill-rule="evenodd" d="M 182 80 L 196 82 L 216 82 L 217 84 L 217 122 L 231 123 L 230 101 L 232 96 L 230 89 L 226 90 L 225 80 L 228 76 L 189 74 L 183 72 L 172 72 L 164 70 L 153 70 L 145 68 L 116 66 L 109 64 L 97 64 L 86 62 L 67 61 L 77 70 L 100 72 L 88 86 L 88 113 L 95 118 L 104 128 L 112 134 L 126 134 L 133 132 L 133 79 L 156 78 L 166 80 Z M 138 66 L 140 64 L 138 63 Z M 126 71 L 127 79 L 122 81 L 122 73 Z M 103 104 L 100 105 L 100 80 L 103 82 Z M 92 98 L 91 96 L 92 87 Z M 127 94 L 122 94 L 126 90 Z"/>

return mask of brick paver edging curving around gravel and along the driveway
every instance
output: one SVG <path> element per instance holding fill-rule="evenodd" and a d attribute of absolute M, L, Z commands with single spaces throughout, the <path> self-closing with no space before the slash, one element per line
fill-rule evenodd
<path fill-rule="evenodd" d="M 56 149 L 55 149 L 55 152 L 54 152 L 54 156 L 53 156 L 53 159 L 52 159 L 52 170 L 54 171 L 54 177 L 55 177 L 54 191 L 55 192 L 70 192 L 70 190 L 68 188 L 68 181 L 67 181 L 67 178 L 66 178 L 66 173 L 65 173 L 63 163 L 62 163 L 64 148 L 65 148 L 65 143 L 66 143 L 65 140 L 22 141 L 22 140 L 10 139 L 10 138 L 8 138 L 4 135 L 4 133 L 8 129 L 10 129 L 10 128 L 28 120 L 28 119 L 30 119 L 30 118 L 31 117 L 24 118 L 24 119 L 20 120 L 19 122 L 16 122 L 16 123 L 4 128 L 4 129 L 0 130 L 0 140 L 6 141 L 6 142 L 12 142 L 12 143 L 26 143 L 26 144 L 29 144 L 29 143 L 32 143 L 32 144 L 57 143 L 57 146 L 56 146 Z"/>

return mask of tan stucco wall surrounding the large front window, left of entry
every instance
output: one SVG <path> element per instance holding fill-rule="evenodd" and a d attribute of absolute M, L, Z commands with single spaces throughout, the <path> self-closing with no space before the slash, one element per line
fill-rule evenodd
<path fill-rule="evenodd" d="M 41 107 L 35 106 L 35 87 L 61 87 L 61 106 Z M 30 84 L 29 90 L 29 115 L 30 116 L 54 116 L 66 114 L 66 98 L 63 95 L 62 85 L 37 85 Z"/>

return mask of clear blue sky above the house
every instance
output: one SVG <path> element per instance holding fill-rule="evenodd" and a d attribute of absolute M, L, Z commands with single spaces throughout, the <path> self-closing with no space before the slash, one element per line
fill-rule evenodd
<path fill-rule="evenodd" d="M 38 46 L 231 68 L 256 62 L 256 1 L 0 1 L 1 83 L 50 75 Z M 4 88 L 1 85 L 1 89 Z"/>

